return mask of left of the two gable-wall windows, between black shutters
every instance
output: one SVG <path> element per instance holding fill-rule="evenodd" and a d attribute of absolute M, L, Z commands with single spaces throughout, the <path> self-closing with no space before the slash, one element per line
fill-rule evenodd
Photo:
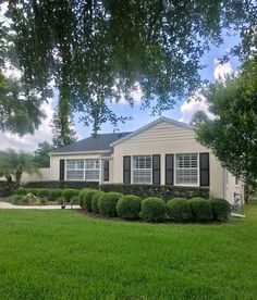
<path fill-rule="evenodd" d="M 151 184 L 151 157 L 133 157 L 133 183 Z"/>

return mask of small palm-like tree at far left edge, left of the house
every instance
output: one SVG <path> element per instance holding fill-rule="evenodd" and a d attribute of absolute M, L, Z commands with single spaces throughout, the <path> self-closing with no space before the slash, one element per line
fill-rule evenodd
<path fill-rule="evenodd" d="M 10 185 L 12 184 L 12 176 L 14 176 L 16 186 L 20 186 L 24 172 L 28 174 L 37 172 L 37 165 L 32 153 L 16 152 L 13 149 L 1 151 L 0 176 L 4 176 Z"/>

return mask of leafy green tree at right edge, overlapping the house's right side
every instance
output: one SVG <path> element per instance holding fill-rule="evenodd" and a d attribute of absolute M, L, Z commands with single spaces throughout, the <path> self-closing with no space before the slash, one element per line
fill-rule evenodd
<path fill-rule="evenodd" d="M 215 120 L 197 123 L 198 141 L 212 150 L 234 176 L 257 179 L 257 55 L 236 77 L 209 85 L 205 91 Z"/>

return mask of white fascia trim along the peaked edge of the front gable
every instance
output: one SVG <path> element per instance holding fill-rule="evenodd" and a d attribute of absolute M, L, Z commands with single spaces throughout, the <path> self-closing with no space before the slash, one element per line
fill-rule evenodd
<path fill-rule="evenodd" d="M 124 140 L 127 140 L 127 139 L 130 139 L 130 138 L 132 138 L 132 137 L 134 137 L 134 136 L 136 136 L 136 135 L 138 135 L 138 134 L 140 134 L 140 133 L 143 133 L 143 132 L 145 132 L 145 130 L 147 130 L 147 129 L 156 126 L 157 124 L 159 124 L 161 122 L 167 122 L 167 123 L 170 123 L 172 125 L 176 125 L 176 126 L 183 127 L 185 129 L 194 130 L 194 128 L 191 125 L 188 125 L 188 124 L 185 124 L 185 123 L 182 123 L 182 122 L 179 122 L 179 121 L 166 117 L 166 116 L 161 116 L 161 117 L 157 118 L 156 121 L 154 121 L 154 122 L 151 122 L 151 123 L 149 123 L 149 124 L 140 127 L 139 129 L 133 132 L 132 134 L 130 134 L 130 135 L 127 135 L 127 136 L 125 136 L 125 137 L 123 137 L 121 139 L 118 139 L 117 141 L 112 142 L 110 146 L 111 147 L 117 146 L 117 145 L 123 142 Z"/>

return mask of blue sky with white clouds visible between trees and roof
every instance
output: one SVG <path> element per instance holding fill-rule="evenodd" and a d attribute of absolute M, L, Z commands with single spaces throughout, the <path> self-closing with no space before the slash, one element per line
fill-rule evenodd
<path fill-rule="evenodd" d="M 206 67 L 200 71 L 200 76 L 203 79 L 208 79 L 209 82 L 213 82 L 219 77 L 221 77 L 222 79 L 225 74 L 232 74 L 238 67 L 240 63 L 236 58 L 233 58 L 231 61 L 223 65 L 218 64 L 218 59 L 222 58 L 225 51 L 230 50 L 234 45 L 238 43 L 238 35 L 227 36 L 224 34 L 223 40 L 223 45 L 221 45 L 219 48 L 212 47 L 210 51 L 203 57 L 201 64 L 206 65 Z M 120 132 L 136 130 L 139 127 L 159 117 L 152 116 L 150 109 L 140 110 L 139 91 L 134 92 L 133 96 L 136 101 L 136 104 L 133 109 L 128 104 L 124 103 L 124 101 L 121 101 L 118 104 L 112 104 L 112 109 L 117 114 L 133 117 L 133 121 L 127 121 L 125 124 L 119 124 L 118 129 Z M 54 112 L 53 109 L 56 102 L 56 99 L 51 99 L 49 103 L 44 103 L 41 105 L 41 109 L 42 111 L 45 111 L 47 117 L 42 120 L 41 125 L 34 135 L 25 135 L 23 137 L 19 137 L 10 133 L 0 133 L 0 149 L 13 148 L 15 150 L 35 151 L 39 142 L 42 142 L 45 140 L 51 142 L 52 132 L 50 127 L 50 122 Z M 162 115 L 184 123 L 188 123 L 193 114 L 198 110 L 203 110 L 208 113 L 208 105 L 204 99 L 203 101 L 196 101 L 194 99 L 187 101 L 186 99 L 184 99 L 183 101 L 178 102 L 174 109 L 163 112 Z M 91 128 L 85 127 L 83 123 L 78 122 L 78 118 L 79 115 L 75 114 L 75 130 L 79 140 L 90 136 Z M 113 132 L 113 127 L 110 124 L 103 124 L 100 133 L 111 132 Z"/>

